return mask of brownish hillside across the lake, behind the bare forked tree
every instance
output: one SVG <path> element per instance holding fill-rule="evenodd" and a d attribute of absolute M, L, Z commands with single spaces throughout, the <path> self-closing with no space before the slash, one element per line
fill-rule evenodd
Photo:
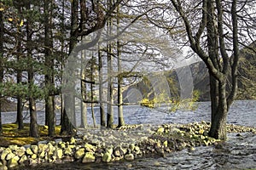
<path fill-rule="evenodd" d="M 253 50 L 254 49 L 254 50 Z M 243 48 L 240 51 L 241 58 L 238 68 L 238 94 L 237 99 L 256 99 L 256 42 L 253 42 L 249 48 Z M 181 68 L 180 70 L 182 70 Z M 187 69 L 187 68 L 186 68 Z M 129 102 L 129 99 L 139 100 L 143 98 L 153 99 L 154 95 L 159 95 L 159 90 L 155 91 L 155 84 L 166 84 L 163 78 L 165 77 L 168 82 L 170 90 L 167 90 L 168 96 L 172 98 L 177 98 L 181 94 L 181 89 L 183 86 L 180 85 L 180 81 L 183 78 L 187 78 L 193 82 L 193 90 L 200 92 L 200 101 L 210 100 L 210 86 L 209 86 L 209 74 L 207 71 L 207 66 L 202 62 L 197 62 L 189 65 L 191 71 L 192 79 L 189 77 L 190 74 L 184 75 L 184 77 L 177 76 L 177 70 L 165 71 L 159 73 L 152 73 L 147 77 L 143 78 L 143 81 L 138 82 L 135 85 L 130 86 L 124 92 L 125 102 Z M 156 81 L 152 81 L 156 79 Z M 229 77 L 230 79 L 230 77 Z M 189 83 L 189 80 L 187 81 Z M 157 83 L 154 83 L 157 82 Z M 231 81 L 229 81 L 231 82 Z M 159 86 L 159 85 L 158 85 Z M 189 86 L 188 86 L 189 87 Z M 187 88 L 187 87 L 185 87 Z M 136 89 L 136 90 L 135 90 Z M 165 93 L 163 87 L 160 88 L 161 93 Z M 229 89 L 227 89 L 229 90 Z M 131 93 L 131 91 L 133 93 Z M 170 91 L 170 92 L 169 92 Z M 140 95 L 138 95 L 140 94 Z"/>

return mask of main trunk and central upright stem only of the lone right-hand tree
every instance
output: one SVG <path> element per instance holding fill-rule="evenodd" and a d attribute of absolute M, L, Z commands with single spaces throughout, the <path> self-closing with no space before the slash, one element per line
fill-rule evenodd
<path fill-rule="evenodd" d="M 207 1 L 207 46 L 208 55 L 212 61 L 210 68 L 210 87 L 211 87 L 211 109 L 212 119 L 209 136 L 215 139 L 226 139 L 226 116 L 228 113 L 226 103 L 226 78 L 225 73 L 220 66 L 218 54 L 218 26 L 215 22 L 218 20 L 214 14 L 213 1 Z M 224 56 L 222 56 L 224 58 Z M 214 67 L 214 68 L 213 68 Z M 212 70 L 218 71 L 218 77 L 212 74 Z"/>

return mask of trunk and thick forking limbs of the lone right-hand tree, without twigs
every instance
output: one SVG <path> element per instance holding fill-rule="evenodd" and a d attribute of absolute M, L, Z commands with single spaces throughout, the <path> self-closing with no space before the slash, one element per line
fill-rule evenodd
<path fill-rule="evenodd" d="M 230 64 L 230 58 L 227 54 L 227 48 L 224 43 L 224 20 L 223 20 L 223 1 L 203 0 L 202 17 L 198 31 L 193 35 L 192 25 L 189 18 L 183 11 L 179 0 L 172 0 L 173 6 L 183 19 L 187 36 L 189 37 L 190 47 L 207 65 L 210 75 L 211 89 L 211 107 L 212 119 L 209 136 L 215 139 L 226 139 L 226 117 L 230 105 L 236 98 L 237 91 L 237 65 L 239 61 L 238 38 L 237 38 L 237 14 L 236 0 L 232 1 L 231 19 L 233 28 L 233 56 Z M 217 9 L 217 14 L 216 10 Z M 207 28 L 207 51 L 201 48 L 201 36 Z M 220 60 L 223 59 L 223 60 Z M 231 66 L 230 66 L 231 65 Z M 231 68 L 232 88 L 230 95 L 227 95 L 226 82 Z"/>

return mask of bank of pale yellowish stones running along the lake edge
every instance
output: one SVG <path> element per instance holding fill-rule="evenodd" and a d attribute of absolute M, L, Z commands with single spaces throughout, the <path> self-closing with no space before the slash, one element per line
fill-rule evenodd
<path fill-rule="evenodd" d="M 86 129 L 68 141 L 41 141 L 0 148 L 0 170 L 43 163 L 132 161 L 137 157 L 166 156 L 177 150 L 220 144 L 207 136 L 210 124 L 125 125 L 119 129 Z M 229 133 L 256 133 L 255 127 L 228 125 Z"/>

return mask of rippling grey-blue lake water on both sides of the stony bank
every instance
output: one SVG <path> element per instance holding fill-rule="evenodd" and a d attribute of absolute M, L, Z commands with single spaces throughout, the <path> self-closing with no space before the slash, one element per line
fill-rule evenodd
<path fill-rule="evenodd" d="M 128 124 L 162 124 L 210 122 L 210 103 L 197 104 L 195 111 L 176 111 L 166 114 L 159 109 L 140 106 L 124 108 L 125 122 Z M 117 111 L 117 108 L 114 109 Z M 99 117 L 96 108 L 96 117 Z M 90 114 L 90 110 L 88 110 Z M 3 113 L 3 122 L 14 122 L 15 114 Z M 57 116 L 57 122 L 59 122 Z M 115 117 L 117 120 L 117 116 Z M 39 123 L 44 123 L 44 112 L 38 112 Z M 78 119 L 79 121 L 79 119 Z M 91 122 L 91 118 L 88 117 Z M 236 101 L 232 105 L 228 123 L 256 127 L 256 100 Z M 117 122 L 115 122 L 117 123 Z M 60 165 L 38 166 L 37 169 L 252 169 L 256 168 L 256 135 L 252 133 L 228 133 L 228 139 L 221 148 L 214 146 L 197 147 L 195 151 L 182 150 L 166 157 L 147 157 L 135 161 L 120 161 L 102 164 L 65 163 Z"/>

